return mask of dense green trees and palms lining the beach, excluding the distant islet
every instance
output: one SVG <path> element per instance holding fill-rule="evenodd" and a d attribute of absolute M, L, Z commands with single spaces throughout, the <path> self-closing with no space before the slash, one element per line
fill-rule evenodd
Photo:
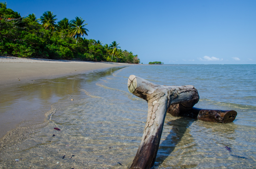
<path fill-rule="evenodd" d="M 140 63 L 137 55 L 122 50 L 116 41 L 110 45 L 82 38 L 88 35 L 85 20 L 76 17 L 57 22 L 56 15 L 46 11 L 37 19 L 35 14 L 21 17 L 18 12 L 0 3 L 0 54 L 49 59 L 79 59 Z M 41 22 L 41 24 L 39 23 Z"/>

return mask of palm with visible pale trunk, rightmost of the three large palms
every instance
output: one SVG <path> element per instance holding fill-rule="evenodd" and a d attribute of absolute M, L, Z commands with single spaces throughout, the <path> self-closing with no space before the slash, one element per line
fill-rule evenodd
<path fill-rule="evenodd" d="M 84 34 L 88 36 L 86 31 L 89 32 L 89 30 L 84 28 L 84 26 L 88 25 L 88 23 L 83 24 L 84 22 L 85 20 L 82 20 L 81 17 L 80 18 L 76 17 L 75 20 L 71 21 L 72 28 L 70 32 L 70 37 L 77 37 L 77 40 L 78 40 L 78 38 L 80 38 L 81 36 L 83 37 Z"/>

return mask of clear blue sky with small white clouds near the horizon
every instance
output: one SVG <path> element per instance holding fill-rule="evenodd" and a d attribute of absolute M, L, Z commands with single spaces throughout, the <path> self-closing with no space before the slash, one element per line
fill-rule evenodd
<path fill-rule="evenodd" d="M 144 64 L 256 64 L 254 0 L 6 2 L 22 16 L 82 17 L 87 39 L 116 41 Z"/>

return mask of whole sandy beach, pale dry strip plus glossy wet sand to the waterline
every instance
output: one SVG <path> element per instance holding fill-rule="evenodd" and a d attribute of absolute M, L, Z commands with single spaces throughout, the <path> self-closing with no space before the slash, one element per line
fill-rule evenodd
<path fill-rule="evenodd" d="M 74 94 L 73 80 L 67 77 L 76 79 L 75 75 L 130 65 L 1 56 L 0 139 L 16 127 L 43 123 L 53 103 Z"/>

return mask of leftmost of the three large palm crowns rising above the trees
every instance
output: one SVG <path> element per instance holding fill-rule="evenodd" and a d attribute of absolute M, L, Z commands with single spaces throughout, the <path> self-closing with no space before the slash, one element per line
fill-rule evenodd
<path fill-rule="evenodd" d="M 43 16 L 40 17 L 40 21 L 42 23 L 42 26 L 46 29 L 46 30 L 54 30 L 54 26 L 55 26 L 55 21 L 57 19 L 54 19 L 57 15 L 53 15 L 53 13 L 51 11 L 46 11 L 45 13 L 43 13 Z"/>

